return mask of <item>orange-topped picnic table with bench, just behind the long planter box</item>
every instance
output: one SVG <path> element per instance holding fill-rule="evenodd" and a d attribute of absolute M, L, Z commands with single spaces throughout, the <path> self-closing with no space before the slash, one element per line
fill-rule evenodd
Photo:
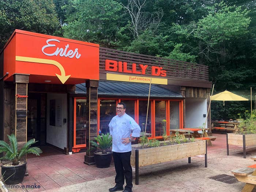
<path fill-rule="evenodd" d="M 209 130 L 208 128 L 204 128 L 205 131 L 203 131 L 200 128 L 183 128 L 183 129 L 170 129 L 170 138 L 175 136 L 175 133 L 178 132 L 180 135 L 182 135 L 183 138 L 186 138 L 188 134 L 191 134 L 191 138 L 196 138 L 196 139 L 202 139 L 202 140 L 207 140 L 208 145 L 212 146 L 211 140 L 214 141 L 217 137 L 215 136 L 208 136 L 206 130 Z M 203 135 L 199 133 L 198 131 L 203 131 Z"/>

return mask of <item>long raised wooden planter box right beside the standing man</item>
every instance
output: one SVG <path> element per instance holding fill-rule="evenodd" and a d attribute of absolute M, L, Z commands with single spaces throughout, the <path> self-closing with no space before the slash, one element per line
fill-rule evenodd
<path fill-rule="evenodd" d="M 140 144 L 132 145 L 132 147 L 138 146 Z M 196 139 L 192 143 L 144 149 L 132 148 L 131 165 L 135 167 L 135 184 L 139 184 L 139 167 L 183 158 L 188 158 L 188 163 L 191 163 L 191 157 L 196 155 L 204 155 L 205 167 L 207 167 L 207 141 Z"/>

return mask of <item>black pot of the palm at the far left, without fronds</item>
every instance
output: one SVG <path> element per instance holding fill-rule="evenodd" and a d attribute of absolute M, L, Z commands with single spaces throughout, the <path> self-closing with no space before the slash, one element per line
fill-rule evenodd
<path fill-rule="evenodd" d="M 6 185 L 15 185 L 21 183 L 25 176 L 27 162 L 22 165 L 4 166 L 1 165 L 1 174 Z M 8 178 L 9 177 L 9 178 Z"/>

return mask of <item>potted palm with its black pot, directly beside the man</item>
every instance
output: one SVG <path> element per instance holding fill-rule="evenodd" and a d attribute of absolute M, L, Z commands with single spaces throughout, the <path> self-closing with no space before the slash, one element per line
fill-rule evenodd
<path fill-rule="evenodd" d="M 98 135 L 94 138 L 95 141 L 90 141 L 93 147 L 97 148 L 94 152 L 94 161 L 98 168 L 107 168 L 110 166 L 113 152 L 110 150 L 112 146 L 112 137 L 109 133 Z"/>

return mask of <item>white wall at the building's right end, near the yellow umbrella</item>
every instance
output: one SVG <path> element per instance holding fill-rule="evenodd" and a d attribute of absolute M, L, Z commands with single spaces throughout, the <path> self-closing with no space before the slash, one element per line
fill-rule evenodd
<path fill-rule="evenodd" d="M 207 115 L 207 99 L 203 98 L 186 98 L 186 111 L 185 111 L 185 127 L 203 127 L 206 123 L 207 117 L 203 117 L 203 114 Z"/>

